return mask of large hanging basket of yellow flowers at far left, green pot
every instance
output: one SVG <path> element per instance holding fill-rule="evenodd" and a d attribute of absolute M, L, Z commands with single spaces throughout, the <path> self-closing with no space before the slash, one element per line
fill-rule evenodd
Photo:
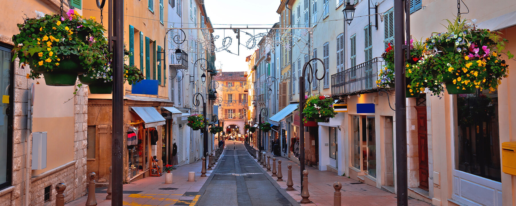
<path fill-rule="evenodd" d="M 65 17 L 46 14 L 26 19 L 18 28 L 20 33 L 12 37 L 16 45 L 12 60 L 20 58 L 22 67 L 30 65 L 27 78 L 43 75 L 47 85 L 75 85 L 77 75 L 88 72 L 93 62 L 106 61 L 90 46 L 104 38 L 104 27 L 73 9 Z"/>

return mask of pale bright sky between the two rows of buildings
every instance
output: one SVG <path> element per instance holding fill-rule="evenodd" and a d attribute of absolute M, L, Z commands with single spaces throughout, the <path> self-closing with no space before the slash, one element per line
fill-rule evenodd
<path fill-rule="evenodd" d="M 270 28 L 272 25 L 280 21 L 280 15 L 276 13 L 280 5 L 280 0 L 205 0 L 204 1 L 206 13 L 209 20 L 211 20 L 214 28 L 230 27 L 267 27 Z M 218 25 L 228 24 L 228 25 Z M 234 25 L 234 24 L 246 24 L 246 25 Z M 249 25 L 247 24 L 266 24 L 266 25 Z M 242 30 L 252 35 L 257 35 L 260 32 L 267 32 L 266 29 L 253 30 L 246 29 Z M 236 33 L 230 29 L 215 29 L 214 36 L 219 36 L 216 40 L 215 45 L 217 48 L 222 46 L 222 39 L 224 37 L 232 37 L 232 44 L 228 48 L 232 53 L 238 54 L 238 40 L 236 39 Z M 223 72 L 237 72 L 247 71 L 246 57 L 251 55 L 256 47 L 248 49 L 245 44 L 249 36 L 244 32 L 240 32 L 240 55 L 230 54 L 226 51 L 216 53 L 216 66 L 220 68 L 222 64 Z M 257 39 L 256 42 L 260 41 Z"/>

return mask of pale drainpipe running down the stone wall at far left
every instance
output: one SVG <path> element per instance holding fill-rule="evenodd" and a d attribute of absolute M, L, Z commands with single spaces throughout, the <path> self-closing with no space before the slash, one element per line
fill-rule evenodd
<path fill-rule="evenodd" d="M 32 172 L 32 169 L 30 168 L 31 162 L 30 162 L 30 147 L 32 145 L 32 141 L 30 140 L 30 132 L 32 130 L 32 94 L 34 92 L 34 83 L 30 85 L 30 92 L 28 94 L 28 101 L 27 101 L 27 133 L 25 134 L 25 141 L 27 141 L 27 148 L 25 149 L 25 205 L 29 205 L 29 192 L 30 192 L 30 174 Z"/>

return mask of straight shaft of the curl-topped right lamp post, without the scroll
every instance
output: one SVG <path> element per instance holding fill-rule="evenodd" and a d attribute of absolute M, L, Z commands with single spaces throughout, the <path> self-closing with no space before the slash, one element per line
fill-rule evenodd
<path fill-rule="evenodd" d="M 303 68 L 304 70 L 304 68 Z M 304 71 L 303 71 L 304 73 Z M 299 77 L 299 108 L 304 108 L 304 74 Z M 304 171 L 304 114 L 299 110 L 299 173 L 301 191 L 303 191 L 303 171 Z"/>

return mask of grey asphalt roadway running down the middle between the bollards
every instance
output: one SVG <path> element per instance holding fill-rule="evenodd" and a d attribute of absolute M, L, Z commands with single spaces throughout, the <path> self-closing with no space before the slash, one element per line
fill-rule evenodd
<path fill-rule="evenodd" d="M 299 205 L 264 173 L 244 144 L 227 141 L 212 175 L 199 191 L 196 205 Z"/>

